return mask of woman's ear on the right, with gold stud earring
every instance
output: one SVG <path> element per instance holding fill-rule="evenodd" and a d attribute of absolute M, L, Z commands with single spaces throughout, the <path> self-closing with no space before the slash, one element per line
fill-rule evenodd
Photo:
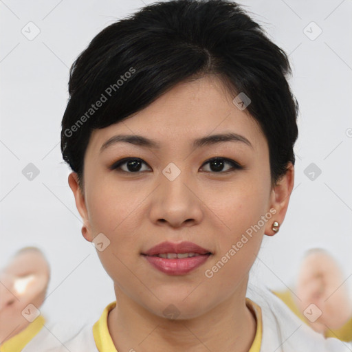
<path fill-rule="evenodd" d="M 291 196 L 292 189 L 294 188 L 294 165 L 292 162 L 287 164 L 287 171 L 281 179 L 278 179 L 276 185 L 272 189 L 270 209 L 276 210 L 270 221 L 267 221 L 265 225 L 265 234 L 267 236 L 273 236 L 276 234 L 272 230 L 272 223 L 278 221 L 281 225 L 285 219 L 287 207 L 289 206 L 289 197 Z"/>

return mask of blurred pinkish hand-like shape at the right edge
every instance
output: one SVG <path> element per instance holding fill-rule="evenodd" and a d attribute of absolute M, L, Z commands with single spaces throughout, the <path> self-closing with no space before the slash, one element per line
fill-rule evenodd
<path fill-rule="evenodd" d="M 352 316 L 345 278 L 333 256 L 324 250 L 311 251 L 300 265 L 296 281 L 296 305 L 300 311 L 314 303 L 322 311 L 321 316 L 307 323 L 320 333 L 339 329 Z M 313 320 L 313 319 L 312 319 Z"/>

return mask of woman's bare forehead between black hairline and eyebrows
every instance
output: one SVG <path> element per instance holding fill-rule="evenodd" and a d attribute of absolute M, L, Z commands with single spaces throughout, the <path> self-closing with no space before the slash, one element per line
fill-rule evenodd
<path fill-rule="evenodd" d="M 145 109 L 129 118 L 91 133 L 89 149 L 97 151 L 116 133 L 144 135 L 164 148 L 188 145 L 199 137 L 233 132 L 243 135 L 259 151 L 266 149 L 265 135 L 248 111 L 240 110 L 222 81 L 206 76 L 179 83 Z"/>

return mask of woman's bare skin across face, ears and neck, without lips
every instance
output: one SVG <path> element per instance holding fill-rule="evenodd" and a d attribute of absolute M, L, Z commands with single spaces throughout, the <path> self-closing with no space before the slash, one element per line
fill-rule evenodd
<path fill-rule="evenodd" d="M 245 305 L 248 272 L 263 235 L 273 235 L 272 222 L 283 222 L 294 186 L 294 167 L 272 188 L 269 149 L 259 125 L 239 110 L 218 78 L 206 76 L 176 85 L 146 109 L 107 128 L 94 130 L 85 154 L 84 189 L 76 173 L 69 186 L 84 221 L 83 236 L 92 241 L 102 232 L 110 245 L 98 252 L 113 279 L 118 306 L 108 327 L 118 351 L 237 351 L 250 349 L 256 320 Z M 243 142 L 221 142 L 192 148 L 198 137 L 232 131 Z M 160 150 L 119 143 L 99 153 L 116 134 L 157 140 Z M 119 173 L 109 166 L 123 157 L 146 164 L 138 174 L 126 164 Z M 206 164 L 227 157 L 242 170 Z M 181 171 L 173 181 L 162 170 L 173 162 Z M 272 219 L 225 265 L 211 268 L 245 230 L 276 209 Z M 155 270 L 143 256 L 162 241 L 192 241 L 212 252 L 208 261 L 184 276 Z M 163 311 L 173 304 L 175 319 Z"/>

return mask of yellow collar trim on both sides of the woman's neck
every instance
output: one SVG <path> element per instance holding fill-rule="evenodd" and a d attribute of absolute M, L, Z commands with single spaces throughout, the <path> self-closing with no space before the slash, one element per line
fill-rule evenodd
<path fill-rule="evenodd" d="M 262 338 L 262 317 L 261 317 L 261 307 L 256 305 L 250 298 L 245 298 L 246 305 L 254 311 L 256 316 L 256 335 L 252 343 L 252 347 L 248 352 L 259 352 L 261 350 L 261 338 Z M 111 311 L 116 306 L 116 301 L 107 305 L 107 307 L 102 312 L 99 320 L 93 326 L 93 336 L 96 342 L 96 347 L 99 352 L 118 352 L 113 340 L 109 333 L 109 328 L 107 326 L 107 316 L 109 311 Z M 2 352 L 2 351 L 0 351 Z"/>

